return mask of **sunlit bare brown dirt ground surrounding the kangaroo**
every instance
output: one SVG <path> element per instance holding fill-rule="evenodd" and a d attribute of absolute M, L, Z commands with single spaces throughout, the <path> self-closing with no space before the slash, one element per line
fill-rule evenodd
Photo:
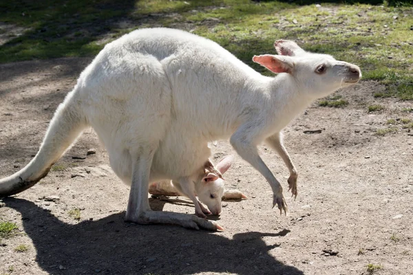
<path fill-rule="evenodd" d="M 54 110 L 90 61 L 0 65 L 0 177 L 32 159 Z M 374 82 L 342 89 L 337 94 L 347 107 L 313 104 L 285 129 L 299 170 L 295 201 L 282 160 L 260 147 L 284 186 L 287 217 L 271 209 L 264 177 L 228 142 L 218 142 L 215 163 L 235 154 L 226 187 L 248 196 L 224 202 L 218 219 L 224 232 L 125 223 L 128 188 L 89 129 L 39 184 L 3 199 L 0 221 L 19 230 L 0 240 L 0 274 L 369 274 L 368 264 L 381 267 L 374 274 L 413 274 L 413 136 L 406 129 L 374 134 L 388 119 L 413 118 L 401 111 L 412 102 L 379 99 L 385 109 L 368 113 L 381 89 Z M 322 131 L 304 133 L 309 129 Z M 90 148 L 96 154 L 87 155 Z M 159 199 L 151 207 L 194 212 L 191 203 Z M 15 251 L 20 244 L 29 250 Z"/>

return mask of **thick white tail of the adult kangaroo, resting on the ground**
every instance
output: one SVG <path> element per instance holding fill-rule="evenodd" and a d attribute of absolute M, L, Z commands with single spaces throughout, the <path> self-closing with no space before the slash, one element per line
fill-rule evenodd
<path fill-rule="evenodd" d="M 54 162 L 70 148 L 88 125 L 79 104 L 80 100 L 76 100 L 77 89 L 75 87 L 67 94 L 63 103 L 56 109 L 34 159 L 14 175 L 0 179 L 0 197 L 14 195 L 34 186 L 47 175 Z"/>

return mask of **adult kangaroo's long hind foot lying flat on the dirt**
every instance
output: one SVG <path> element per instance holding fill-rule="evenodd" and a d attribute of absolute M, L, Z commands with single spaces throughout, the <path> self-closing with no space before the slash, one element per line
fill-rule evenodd
<path fill-rule="evenodd" d="M 140 224 L 174 224 L 180 225 L 183 228 L 189 229 L 204 229 L 210 231 L 223 231 L 224 228 L 218 225 L 215 221 L 209 221 L 208 219 L 202 219 L 196 217 L 193 214 L 182 214 L 175 212 L 164 211 L 146 211 L 142 212 L 138 219 L 134 222 Z"/>

